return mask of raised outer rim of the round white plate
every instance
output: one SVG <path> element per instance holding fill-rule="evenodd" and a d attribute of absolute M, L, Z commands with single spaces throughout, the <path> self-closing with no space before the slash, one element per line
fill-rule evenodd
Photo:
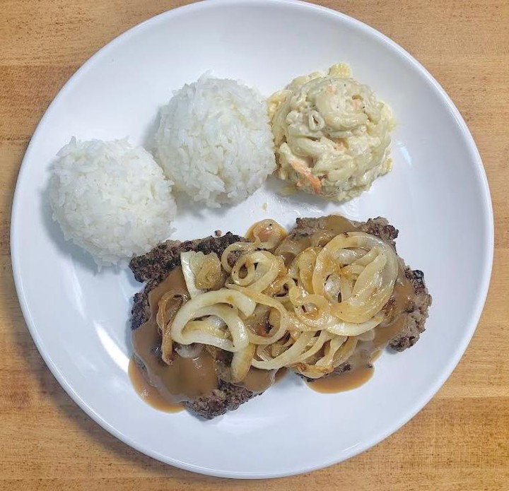
<path fill-rule="evenodd" d="M 57 102 L 72 89 L 74 83 L 80 78 L 83 73 L 86 73 L 88 69 L 94 64 L 96 59 L 100 59 L 100 57 L 104 57 L 110 49 L 114 49 L 117 45 L 121 44 L 124 40 L 127 40 L 129 37 L 134 35 L 139 30 L 143 30 L 147 25 L 151 25 L 153 23 L 160 22 L 162 20 L 167 20 L 171 18 L 176 18 L 180 15 L 185 15 L 187 13 L 192 13 L 192 11 L 203 10 L 207 8 L 221 8 L 224 6 L 238 6 L 238 5 L 264 5 L 267 4 L 288 4 L 296 8 L 309 9 L 312 11 L 319 11 L 327 16 L 332 16 L 335 18 L 341 19 L 342 22 L 349 23 L 354 28 L 363 30 L 368 35 L 371 35 L 378 39 L 382 44 L 387 45 L 390 49 L 394 50 L 400 56 L 404 57 L 404 59 L 411 64 L 417 71 L 423 75 L 435 90 L 436 95 L 440 97 L 443 102 L 445 102 L 446 107 L 450 110 L 452 116 L 455 119 L 457 126 L 459 127 L 461 134 L 464 138 L 464 141 L 467 143 L 467 150 L 472 155 L 472 160 L 476 162 L 475 170 L 476 177 L 481 184 L 481 188 L 483 191 L 482 201 L 484 205 L 483 215 L 486 220 L 486 243 L 484 244 L 486 249 L 484 251 L 483 263 L 484 266 L 482 268 L 482 278 L 480 283 L 478 295 L 478 302 L 476 304 L 476 309 L 472 320 L 469 322 L 464 329 L 464 335 L 462 337 L 461 343 L 457 345 L 454 355 L 450 358 L 447 365 L 443 367 L 443 370 L 440 374 L 440 377 L 435 381 L 435 383 L 431 386 L 431 389 L 424 394 L 421 398 L 416 399 L 413 408 L 409 413 L 406 413 L 403 418 L 399 418 L 395 420 L 392 425 L 386 427 L 383 432 L 380 432 L 370 439 L 367 439 L 366 442 L 359 444 L 355 449 L 351 449 L 350 451 L 344 452 L 344 457 L 338 459 L 333 458 L 329 459 L 329 461 L 322 462 L 318 465 L 311 465 L 304 468 L 294 469 L 293 471 L 286 472 L 255 472 L 255 473 L 246 473 L 246 472 L 236 472 L 236 471 L 218 471 L 213 468 L 206 468 L 204 466 L 197 466 L 192 463 L 182 462 L 177 459 L 172 459 L 166 455 L 160 454 L 158 451 L 153 451 L 150 448 L 144 446 L 143 444 L 139 444 L 138 442 L 131 440 L 126 434 L 119 432 L 114 426 L 107 422 L 107 420 L 103 419 L 98 413 L 95 412 L 93 408 L 91 408 L 86 401 L 81 398 L 73 386 L 66 380 L 65 375 L 59 370 L 59 368 L 54 364 L 51 355 L 47 353 L 45 350 L 42 339 L 39 336 L 37 326 L 35 321 L 31 317 L 30 308 L 28 306 L 28 302 L 25 299 L 25 292 L 23 289 L 23 278 L 21 277 L 21 271 L 18 265 L 18 250 L 20 249 L 18 244 L 18 236 L 17 236 L 17 227 L 20 223 L 20 217 L 18 216 L 18 201 L 20 200 L 21 195 L 21 187 L 22 183 L 25 180 L 25 175 L 28 172 L 28 162 L 31 154 L 33 153 L 34 141 L 37 140 L 37 135 L 40 131 L 42 131 L 42 127 L 45 126 L 46 119 L 49 118 L 49 114 L 54 110 Z M 18 295 L 18 300 L 21 306 L 21 310 L 23 312 L 23 318 L 25 319 L 25 324 L 28 327 L 30 335 L 33 338 L 33 341 L 39 351 L 42 359 L 45 361 L 45 364 L 49 368 L 50 372 L 52 372 L 53 376 L 57 379 L 62 389 L 66 391 L 66 393 L 71 397 L 71 399 L 83 410 L 90 418 L 94 420 L 98 425 L 103 427 L 104 430 L 112 434 L 114 437 L 119 439 L 124 444 L 131 446 L 131 448 L 140 451 L 142 454 L 152 457 L 158 461 L 163 463 L 170 464 L 177 468 L 185 469 L 186 471 L 192 471 L 194 473 L 204 474 L 204 475 L 212 475 L 215 477 L 221 478 L 237 478 L 237 479 L 260 479 L 260 478 L 279 478 L 286 477 L 290 475 L 298 475 L 302 473 L 308 473 L 311 471 L 315 471 L 320 468 L 326 468 L 332 466 L 336 463 L 340 463 L 342 461 L 346 461 L 347 459 L 351 459 L 353 456 L 361 454 L 363 451 L 370 449 L 371 447 L 379 444 L 384 439 L 389 437 L 391 434 L 399 430 L 403 425 L 405 425 L 409 420 L 414 418 L 414 416 L 421 411 L 426 404 L 431 401 L 431 398 L 437 394 L 440 388 L 445 384 L 445 381 L 450 377 L 452 372 L 454 371 L 457 364 L 460 362 L 462 356 L 464 355 L 467 347 L 472 340 L 472 336 L 476 330 L 477 325 L 479 324 L 479 320 L 481 318 L 481 314 L 484 310 L 484 305 L 486 303 L 486 298 L 488 295 L 488 289 L 491 280 L 491 272 L 493 268 L 493 252 L 494 252 L 494 223 L 493 223 L 493 206 L 491 202 L 491 194 L 488 185 L 488 179 L 486 177 L 486 170 L 484 168 L 484 164 L 481 160 L 481 155 L 479 154 L 479 150 L 476 146 L 474 138 L 470 133 L 467 124 L 464 122 L 464 119 L 460 113 L 460 111 L 455 106 L 454 102 L 452 102 L 451 98 L 443 87 L 435 80 L 435 78 L 431 75 L 431 73 L 424 68 L 424 66 L 417 61 L 409 52 L 406 51 L 403 47 L 399 46 L 396 42 L 382 34 L 382 32 L 372 28 L 370 25 L 363 23 L 361 20 L 357 20 L 351 16 L 347 16 L 344 13 L 339 11 L 335 11 L 332 8 L 327 8 L 324 6 L 319 6 L 316 4 L 310 4 L 305 1 L 300 0 L 214 0 L 214 1 L 206 1 L 201 0 L 192 4 L 187 4 L 185 6 L 180 6 L 177 8 L 172 8 L 163 13 L 159 13 L 156 16 L 148 18 L 142 21 L 139 24 L 134 25 L 128 30 L 122 32 L 120 35 L 115 37 L 110 42 L 107 42 L 106 45 L 98 49 L 91 57 L 89 57 L 69 78 L 68 81 L 62 86 L 57 95 L 54 97 L 50 105 L 45 110 L 40 122 L 37 124 L 37 128 L 35 129 L 33 136 L 30 138 L 30 143 L 28 148 L 25 150 L 25 155 L 23 156 L 23 160 L 21 162 L 21 167 L 18 172 L 18 178 L 16 179 L 16 189 L 13 197 L 13 205 L 11 211 L 11 227 L 10 227 L 10 247 L 11 247 L 11 265 L 13 270 L 13 278 L 16 286 L 16 293 Z"/>

